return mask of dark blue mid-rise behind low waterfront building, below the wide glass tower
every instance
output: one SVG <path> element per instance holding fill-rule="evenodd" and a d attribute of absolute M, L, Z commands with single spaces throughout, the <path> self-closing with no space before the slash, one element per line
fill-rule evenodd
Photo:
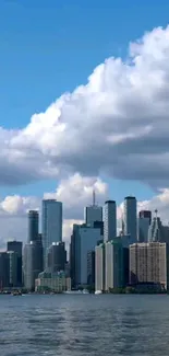
<path fill-rule="evenodd" d="M 65 269 L 67 251 L 64 242 L 53 242 L 48 249 L 48 271 L 57 273 Z"/>

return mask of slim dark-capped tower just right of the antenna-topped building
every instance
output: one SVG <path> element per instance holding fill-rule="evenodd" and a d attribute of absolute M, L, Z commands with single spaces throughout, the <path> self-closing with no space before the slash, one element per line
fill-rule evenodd
<path fill-rule="evenodd" d="M 104 241 L 117 237 L 117 205 L 114 200 L 105 202 L 104 206 Z"/>

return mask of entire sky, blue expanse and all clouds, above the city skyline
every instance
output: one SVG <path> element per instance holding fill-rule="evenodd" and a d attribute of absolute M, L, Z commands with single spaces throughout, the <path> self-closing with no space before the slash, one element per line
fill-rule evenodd
<path fill-rule="evenodd" d="M 99 204 L 133 194 L 168 220 L 168 10 L 0 3 L 0 246 L 26 239 L 44 194 L 63 202 L 68 239 L 94 185 Z"/>

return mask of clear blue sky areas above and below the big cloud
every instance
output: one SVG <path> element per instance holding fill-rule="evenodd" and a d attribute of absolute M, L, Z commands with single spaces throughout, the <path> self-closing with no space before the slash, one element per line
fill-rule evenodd
<path fill-rule="evenodd" d="M 125 57 L 129 42 L 166 26 L 169 2 L 133 0 L 1 0 L 0 125 L 23 128 L 65 91 L 86 83 L 105 58 Z M 118 202 L 154 192 L 135 182 L 108 180 Z M 56 182 L 1 186 L 9 194 L 41 195 Z"/>

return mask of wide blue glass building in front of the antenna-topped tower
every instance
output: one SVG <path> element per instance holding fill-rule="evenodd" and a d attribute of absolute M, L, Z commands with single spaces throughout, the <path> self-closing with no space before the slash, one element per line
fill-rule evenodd
<path fill-rule="evenodd" d="M 71 278 L 73 287 L 87 285 L 87 252 L 101 240 L 100 229 L 73 226 L 71 237 Z"/>

